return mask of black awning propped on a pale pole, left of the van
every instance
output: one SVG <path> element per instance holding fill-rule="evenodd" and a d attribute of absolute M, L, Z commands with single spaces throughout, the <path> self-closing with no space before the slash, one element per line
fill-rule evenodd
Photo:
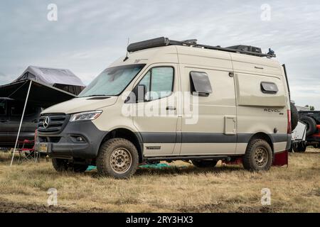
<path fill-rule="evenodd" d="M 48 84 L 36 82 L 32 79 L 25 79 L 11 84 L 0 86 L 0 97 L 16 99 L 18 101 L 26 101 L 26 95 L 31 83 L 31 89 L 28 96 L 28 104 L 47 108 L 54 104 L 58 104 L 75 97 L 74 94 L 57 89 Z"/>

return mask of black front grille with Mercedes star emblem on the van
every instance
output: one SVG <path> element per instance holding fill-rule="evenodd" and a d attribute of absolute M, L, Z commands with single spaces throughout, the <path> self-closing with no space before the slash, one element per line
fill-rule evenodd
<path fill-rule="evenodd" d="M 65 114 L 46 114 L 41 115 L 38 123 L 38 131 L 43 133 L 60 132 L 65 126 L 67 117 Z"/>

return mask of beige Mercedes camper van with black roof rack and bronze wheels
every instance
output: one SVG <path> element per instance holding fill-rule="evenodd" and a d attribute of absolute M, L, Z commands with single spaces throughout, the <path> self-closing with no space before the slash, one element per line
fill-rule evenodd
<path fill-rule="evenodd" d="M 127 47 L 75 99 L 41 113 L 37 149 L 57 171 L 127 178 L 143 162 L 269 170 L 291 145 L 289 87 L 274 52 L 155 38 Z"/>

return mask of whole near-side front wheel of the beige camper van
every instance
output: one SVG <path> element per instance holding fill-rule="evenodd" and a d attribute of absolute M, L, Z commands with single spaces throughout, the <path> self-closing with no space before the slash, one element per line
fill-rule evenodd
<path fill-rule="evenodd" d="M 101 145 L 97 156 L 97 172 L 100 176 L 118 179 L 131 177 L 139 164 L 137 148 L 124 138 L 113 138 Z"/>

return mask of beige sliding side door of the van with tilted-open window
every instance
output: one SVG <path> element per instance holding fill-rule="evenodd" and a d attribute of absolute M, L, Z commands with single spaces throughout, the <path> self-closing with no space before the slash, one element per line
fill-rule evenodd
<path fill-rule="evenodd" d="M 181 155 L 234 154 L 235 84 L 229 71 L 181 66 L 181 75 L 182 90 L 193 100 L 183 101 Z"/>

